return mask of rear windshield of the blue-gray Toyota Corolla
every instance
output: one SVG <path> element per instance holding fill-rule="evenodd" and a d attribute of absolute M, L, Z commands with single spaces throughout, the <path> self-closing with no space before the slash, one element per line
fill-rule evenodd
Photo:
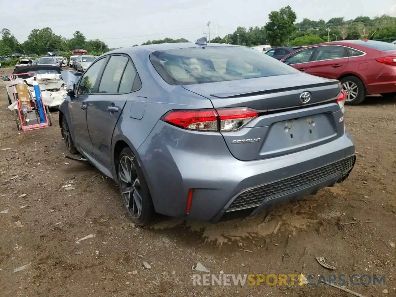
<path fill-rule="evenodd" d="M 203 84 L 298 73 L 248 47 L 208 46 L 154 51 L 150 61 L 171 85 Z"/>

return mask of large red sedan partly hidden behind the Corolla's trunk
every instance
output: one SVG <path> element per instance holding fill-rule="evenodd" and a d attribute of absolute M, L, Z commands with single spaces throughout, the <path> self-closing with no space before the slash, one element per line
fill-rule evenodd
<path fill-rule="evenodd" d="M 315 44 L 281 60 L 305 73 L 341 81 L 345 104 L 358 105 L 366 95 L 396 95 L 396 44 L 343 40 Z"/>

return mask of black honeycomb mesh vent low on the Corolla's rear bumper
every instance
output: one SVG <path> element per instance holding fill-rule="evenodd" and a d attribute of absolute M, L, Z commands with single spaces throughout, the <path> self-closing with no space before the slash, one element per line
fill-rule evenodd
<path fill-rule="evenodd" d="M 354 166 L 355 158 L 355 156 L 350 156 L 321 168 L 242 192 L 231 203 L 227 211 L 259 206 L 266 198 L 279 196 L 299 188 L 307 187 L 310 184 L 326 180 L 339 173 L 346 174 Z"/>

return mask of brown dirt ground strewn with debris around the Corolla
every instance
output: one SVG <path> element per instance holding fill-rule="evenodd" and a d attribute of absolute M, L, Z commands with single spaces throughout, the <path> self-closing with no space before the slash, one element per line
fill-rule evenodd
<path fill-rule="evenodd" d="M 0 76 L 9 73 L 0 69 Z M 357 162 L 344 183 L 254 218 L 216 225 L 161 218 L 140 228 L 128 219 L 112 180 L 65 158 L 57 112 L 54 126 L 17 131 L 5 86 L 1 81 L 2 297 L 351 296 L 325 285 L 193 286 L 192 274 L 203 273 L 192 270 L 197 261 L 217 275 L 385 274 L 385 286 L 348 288 L 396 296 L 396 99 L 368 97 L 346 107 Z M 74 189 L 62 188 L 67 184 Z M 88 234 L 95 236 L 76 243 Z"/>

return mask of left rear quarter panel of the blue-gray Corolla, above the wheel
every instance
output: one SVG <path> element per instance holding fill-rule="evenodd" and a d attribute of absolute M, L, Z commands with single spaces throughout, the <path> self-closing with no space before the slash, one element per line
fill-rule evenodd
<path fill-rule="evenodd" d="M 205 97 L 187 91 L 181 86 L 167 84 L 152 66 L 147 52 L 138 52 L 129 55 L 135 64 L 135 68 L 142 82 L 142 88 L 133 92 L 118 120 L 112 137 L 112 152 L 119 140 L 129 144 L 136 152 L 148 137 L 156 123 L 169 110 L 173 109 L 208 109 L 213 108 L 211 101 Z M 136 110 L 139 110 L 137 112 Z M 138 114 L 139 113 L 139 114 Z M 148 146 L 141 152 L 144 156 L 153 154 L 155 147 Z M 140 153 L 140 152 L 139 152 Z M 156 152 L 161 154 L 161 151 Z M 145 170 L 150 158 L 137 156 L 142 167 L 148 185 L 152 185 L 151 175 Z M 113 158 L 114 160 L 114 158 Z M 113 168 L 115 168 L 113 164 Z M 150 164 L 149 167 L 152 167 Z M 113 172 L 116 180 L 116 172 Z M 155 197 L 153 197 L 155 200 Z"/>

